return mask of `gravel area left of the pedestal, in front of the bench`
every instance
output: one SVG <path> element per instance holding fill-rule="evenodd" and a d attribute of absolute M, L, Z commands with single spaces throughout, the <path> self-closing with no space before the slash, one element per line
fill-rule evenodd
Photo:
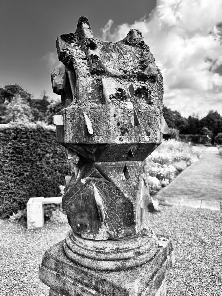
<path fill-rule="evenodd" d="M 68 224 L 45 224 L 31 231 L 0 220 L 0 295 L 49 296 L 49 287 L 38 278 L 38 266 L 46 249 L 64 239 L 68 229 Z"/>

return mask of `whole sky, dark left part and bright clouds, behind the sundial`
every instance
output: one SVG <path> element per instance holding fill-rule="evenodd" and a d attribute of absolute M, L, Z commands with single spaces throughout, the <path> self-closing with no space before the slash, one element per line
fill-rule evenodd
<path fill-rule="evenodd" d="M 221 0 L 1 0 L 0 85 L 52 98 L 56 37 L 89 19 L 94 36 L 119 41 L 139 29 L 164 77 L 163 103 L 183 116 L 222 115 Z M 221 23 L 221 24 L 220 24 Z"/>

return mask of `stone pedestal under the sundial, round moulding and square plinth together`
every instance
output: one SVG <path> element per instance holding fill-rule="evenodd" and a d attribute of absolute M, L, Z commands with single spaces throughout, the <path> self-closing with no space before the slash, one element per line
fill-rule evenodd
<path fill-rule="evenodd" d="M 170 239 L 147 229 L 134 239 L 86 241 L 69 232 L 45 252 L 39 278 L 50 287 L 49 295 L 165 295 L 175 258 Z"/>

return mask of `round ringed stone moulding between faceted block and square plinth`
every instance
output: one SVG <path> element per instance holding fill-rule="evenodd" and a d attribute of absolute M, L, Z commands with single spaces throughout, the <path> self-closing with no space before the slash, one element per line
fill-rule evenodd
<path fill-rule="evenodd" d="M 70 230 L 63 243 L 68 258 L 96 270 L 121 270 L 139 266 L 154 257 L 158 239 L 150 227 L 139 237 L 122 240 L 84 239 Z"/>

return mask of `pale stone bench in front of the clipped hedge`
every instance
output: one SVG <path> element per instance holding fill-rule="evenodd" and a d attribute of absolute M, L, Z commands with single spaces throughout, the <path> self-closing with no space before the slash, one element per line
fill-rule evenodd
<path fill-rule="evenodd" d="M 57 197 L 30 197 L 26 204 L 27 228 L 34 229 L 44 225 L 44 205 L 60 204 L 62 196 Z"/>

